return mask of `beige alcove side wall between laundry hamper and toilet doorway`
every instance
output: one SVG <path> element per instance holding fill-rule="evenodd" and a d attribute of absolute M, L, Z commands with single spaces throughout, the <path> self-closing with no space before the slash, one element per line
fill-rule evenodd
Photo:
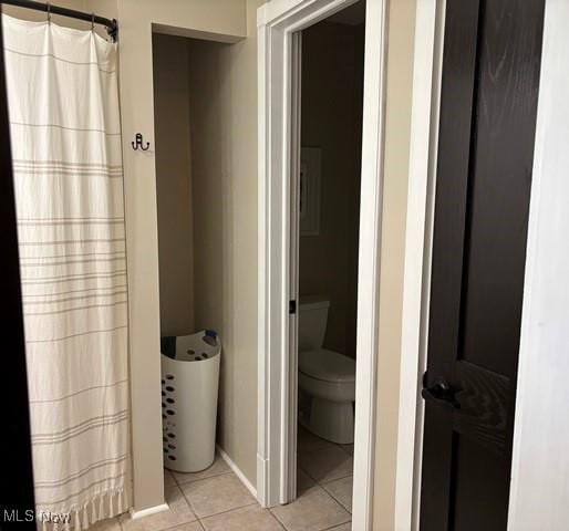
<path fill-rule="evenodd" d="M 218 442 L 257 478 L 257 40 L 192 41 L 196 327 L 218 331 Z"/>

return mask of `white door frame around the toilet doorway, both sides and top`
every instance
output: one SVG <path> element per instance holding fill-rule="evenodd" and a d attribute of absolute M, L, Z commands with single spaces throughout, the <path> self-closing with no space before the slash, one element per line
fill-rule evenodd
<path fill-rule="evenodd" d="M 291 415 L 290 175 L 293 34 L 355 0 L 272 0 L 258 10 L 259 46 L 259 502 L 288 502 Z M 370 530 L 375 446 L 386 0 L 368 0 L 358 292 L 353 528 Z M 294 324 L 293 324 L 294 325 Z M 291 398 L 292 397 L 292 398 Z M 408 456 L 412 460 L 413 456 Z M 413 468 L 413 467 L 411 467 Z"/>

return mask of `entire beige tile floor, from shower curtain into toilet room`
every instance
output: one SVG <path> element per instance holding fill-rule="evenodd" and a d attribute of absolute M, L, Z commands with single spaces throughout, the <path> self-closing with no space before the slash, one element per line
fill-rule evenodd
<path fill-rule="evenodd" d="M 227 464 L 197 473 L 165 470 L 169 511 L 105 520 L 94 531 L 349 531 L 353 445 L 328 442 L 299 427 L 298 499 L 262 509 Z"/>

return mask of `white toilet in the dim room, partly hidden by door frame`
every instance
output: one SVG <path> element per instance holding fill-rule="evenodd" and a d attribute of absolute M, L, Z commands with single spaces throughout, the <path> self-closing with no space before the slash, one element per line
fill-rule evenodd
<path fill-rule="evenodd" d="M 355 361 L 322 348 L 330 302 L 301 298 L 299 304 L 299 388 L 310 396 L 310 410 L 299 421 L 323 439 L 353 442 Z"/>

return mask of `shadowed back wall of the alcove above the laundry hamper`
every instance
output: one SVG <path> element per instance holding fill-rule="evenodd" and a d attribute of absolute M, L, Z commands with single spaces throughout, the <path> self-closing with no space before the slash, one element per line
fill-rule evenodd
<path fill-rule="evenodd" d="M 194 329 L 188 40 L 153 35 L 161 334 Z"/>

